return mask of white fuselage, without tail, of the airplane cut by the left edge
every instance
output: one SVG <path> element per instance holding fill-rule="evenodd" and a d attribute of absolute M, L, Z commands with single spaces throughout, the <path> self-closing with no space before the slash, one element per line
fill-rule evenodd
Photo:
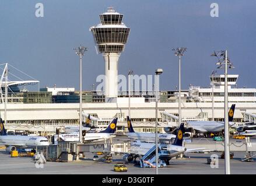
<path fill-rule="evenodd" d="M 50 145 L 45 137 L 27 135 L 1 135 L 0 144 L 5 146 L 16 146 L 18 148 L 34 148 L 36 146 Z"/>

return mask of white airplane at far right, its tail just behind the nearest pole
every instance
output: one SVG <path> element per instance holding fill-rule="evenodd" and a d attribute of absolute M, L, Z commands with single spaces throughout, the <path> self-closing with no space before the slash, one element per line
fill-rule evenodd
<path fill-rule="evenodd" d="M 229 110 L 229 127 L 232 127 L 234 109 L 236 104 L 233 104 Z M 192 127 L 198 133 L 219 133 L 224 130 L 225 123 L 223 121 L 187 121 L 188 127 Z"/>

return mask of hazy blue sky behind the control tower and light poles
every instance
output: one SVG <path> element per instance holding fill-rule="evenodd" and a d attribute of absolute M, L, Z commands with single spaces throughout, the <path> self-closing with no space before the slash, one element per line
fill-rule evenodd
<path fill-rule="evenodd" d="M 44 4 L 44 17 L 35 5 Z M 211 17 L 211 3 L 219 17 Z M 83 90 L 91 90 L 104 74 L 89 28 L 99 14 L 114 6 L 131 28 L 119 61 L 119 74 L 153 74 L 160 67 L 161 90 L 178 85 L 178 60 L 172 48 L 187 47 L 182 61 L 182 88 L 208 86 L 216 68 L 211 53 L 227 49 L 239 74 L 238 87 L 255 88 L 256 1 L 106 1 L 106 0 L 2 0 L 0 1 L 0 62 L 8 62 L 40 80 L 40 87 L 79 88 L 79 58 L 73 48 L 89 48 L 83 60 Z M 218 71 L 223 73 L 223 71 Z"/>

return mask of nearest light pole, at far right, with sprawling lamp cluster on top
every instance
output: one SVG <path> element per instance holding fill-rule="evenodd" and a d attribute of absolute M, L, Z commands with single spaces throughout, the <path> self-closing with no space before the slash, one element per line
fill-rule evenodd
<path fill-rule="evenodd" d="M 225 174 L 230 174 L 230 151 L 229 151 L 229 106 L 228 106 L 228 90 L 227 90 L 227 65 L 229 65 L 229 69 L 233 69 L 234 66 L 232 62 L 230 62 L 229 58 L 227 58 L 227 50 L 214 52 L 211 56 L 216 56 L 218 58 L 218 62 L 216 65 L 219 65 L 218 68 L 222 68 L 223 63 L 225 63 Z"/>

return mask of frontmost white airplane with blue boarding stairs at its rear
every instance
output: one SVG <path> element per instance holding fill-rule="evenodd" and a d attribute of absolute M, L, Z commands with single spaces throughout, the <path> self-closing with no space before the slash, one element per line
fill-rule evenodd
<path fill-rule="evenodd" d="M 166 164 L 169 164 L 169 160 L 171 158 L 181 155 L 184 152 L 199 152 L 199 151 L 202 151 L 202 149 L 204 149 L 204 148 L 198 148 L 198 149 L 184 148 L 184 146 L 183 146 L 184 131 L 185 131 L 184 123 L 181 123 L 173 144 L 171 144 L 171 145 L 170 144 L 159 144 L 159 148 L 160 148 L 159 159 L 160 160 L 164 160 L 164 162 L 166 162 Z M 131 148 L 130 148 L 129 152 L 110 151 L 108 153 L 124 153 L 125 155 L 122 156 L 122 159 L 125 160 L 125 162 L 132 162 L 133 160 L 135 161 L 136 158 L 142 157 L 143 155 L 145 155 L 153 146 L 155 146 L 155 143 L 136 141 L 136 142 L 131 142 Z"/>

